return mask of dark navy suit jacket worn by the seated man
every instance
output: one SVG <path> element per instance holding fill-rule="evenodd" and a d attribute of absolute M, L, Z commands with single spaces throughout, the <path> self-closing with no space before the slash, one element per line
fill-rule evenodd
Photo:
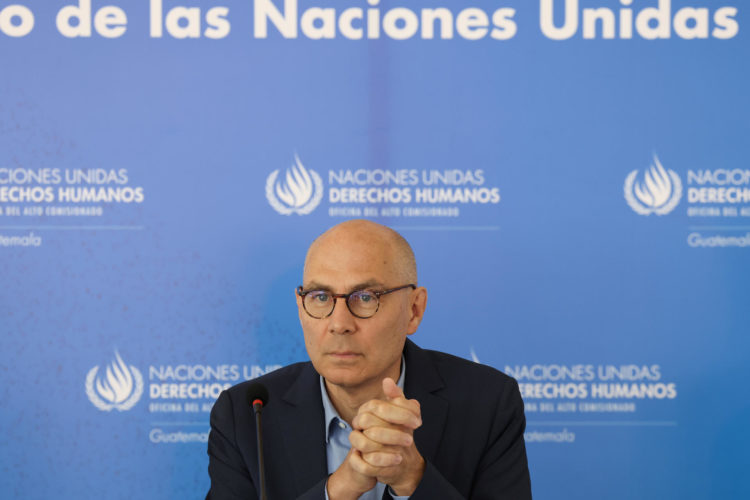
<path fill-rule="evenodd" d="M 420 349 L 410 340 L 404 356 L 404 392 L 422 409 L 423 425 L 414 441 L 426 461 L 411 499 L 530 499 L 526 420 L 516 381 L 494 368 Z M 270 393 L 263 410 L 268 498 L 323 500 L 328 470 L 317 372 L 310 362 L 296 363 L 257 380 Z M 211 412 L 207 499 L 259 498 L 248 384 L 224 391 Z"/>

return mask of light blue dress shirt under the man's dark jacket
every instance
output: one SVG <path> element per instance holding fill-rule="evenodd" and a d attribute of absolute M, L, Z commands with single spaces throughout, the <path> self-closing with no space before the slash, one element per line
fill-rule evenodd
<path fill-rule="evenodd" d="M 401 375 L 398 378 L 397 385 L 404 390 L 404 377 L 406 375 L 406 362 L 404 357 L 401 356 Z M 328 459 L 328 473 L 333 474 L 336 469 L 344 462 L 346 455 L 349 453 L 349 449 L 352 447 L 349 442 L 349 433 L 352 428 L 346 421 L 339 416 L 336 408 L 331 403 L 331 399 L 328 397 L 328 391 L 326 390 L 325 381 L 323 377 L 320 377 L 320 394 L 323 398 L 323 410 L 325 414 L 326 423 L 326 457 Z M 367 491 L 360 495 L 359 500 L 381 500 L 383 498 L 383 492 L 385 491 L 383 483 L 378 482 L 375 487 L 370 491 Z M 328 485 L 326 484 L 326 500 L 328 500 Z M 400 497 L 393 494 L 393 490 L 389 490 L 393 500 L 408 500 L 409 497 Z"/>

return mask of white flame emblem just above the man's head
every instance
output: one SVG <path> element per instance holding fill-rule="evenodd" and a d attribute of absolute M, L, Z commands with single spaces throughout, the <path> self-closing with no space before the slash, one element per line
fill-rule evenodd
<path fill-rule="evenodd" d="M 266 198 L 274 210 L 282 215 L 307 215 L 323 198 L 323 181 L 317 172 L 305 168 L 294 155 L 294 164 L 279 179 L 279 170 L 274 170 L 266 180 Z"/>

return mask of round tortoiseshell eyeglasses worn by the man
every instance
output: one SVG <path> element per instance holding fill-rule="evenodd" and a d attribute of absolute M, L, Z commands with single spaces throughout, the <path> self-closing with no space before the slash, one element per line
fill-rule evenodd
<path fill-rule="evenodd" d="M 408 285 L 375 292 L 372 290 L 356 290 L 352 293 L 331 293 L 326 290 L 303 290 L 297 287 L 297 295 L 302 297 L 302 307 L 305 312 L 316 319 L 327 318 L 333 314 L 336 307 L 336 299 L 345 299 L 346 307 L 354 316 L 362 319 L 371 318 L 378 312 L 380 297 L 387 293 L 403 290 L 404 288 L 416 289 L 417 285 Z"/>

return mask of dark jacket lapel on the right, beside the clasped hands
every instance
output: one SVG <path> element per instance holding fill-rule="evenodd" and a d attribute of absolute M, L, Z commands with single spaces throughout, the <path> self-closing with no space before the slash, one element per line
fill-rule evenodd
<path fill-rule="evenodd" d="M 419 401 L 422 410 L 422 427 L 414 431 L 414 442 L 421 455 L 434 463 L 449 408 L 448 402 L 435 393 L 445 387 L 445 383 L 429 355 L 408 339 L 405 357 L 404 393 L 407 398 Z"/>

